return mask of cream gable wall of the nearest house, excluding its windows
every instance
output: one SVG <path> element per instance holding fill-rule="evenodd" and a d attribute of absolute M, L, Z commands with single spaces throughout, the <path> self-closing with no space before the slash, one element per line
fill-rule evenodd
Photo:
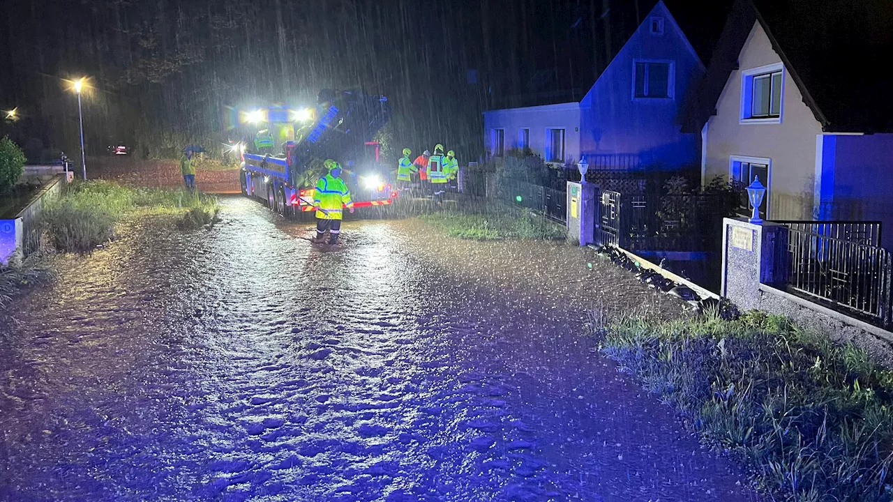
<path fill-rule="evenodd" d="M 813 216 L 816 135 L 822 126 L 803 103 L 794 80 L 784 71 L 780 123 L 740 123 L 741 71 L 781 58 L 759 22 L 755 22 L 739 54 L 739 70 L 732 71 L 707 124 L 703 182 L 729 176 L 731 155 L 767 157 L 770 172 L 769 218 L 803 220 Z M 762 181 L 762 180 L 761 180 Z"/>

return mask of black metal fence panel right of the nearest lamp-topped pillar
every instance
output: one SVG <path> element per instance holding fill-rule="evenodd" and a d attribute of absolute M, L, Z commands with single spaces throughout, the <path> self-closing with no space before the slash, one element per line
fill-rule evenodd
<path fill-rule="evenodd" d="M 893 255 L 880 247 L 880 222 L 783 222 L 788 289 L 882 328 L 891 324 Z"/>

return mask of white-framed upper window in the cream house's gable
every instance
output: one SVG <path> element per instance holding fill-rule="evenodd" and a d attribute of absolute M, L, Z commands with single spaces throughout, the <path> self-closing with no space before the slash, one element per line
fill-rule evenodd
<path fill-rule="evenodd" d="M 781 63 L 741 72 L 741 121 L 780 123 L 784 89 Z"/>

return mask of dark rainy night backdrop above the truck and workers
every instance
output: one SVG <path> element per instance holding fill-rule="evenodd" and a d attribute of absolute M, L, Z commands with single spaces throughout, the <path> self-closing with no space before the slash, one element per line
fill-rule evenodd
<path fill-rule="evenodd" d="M 667 0 L 703 59 L 729 0 Z M 171 156 L 225 141 L 227 106 L 310 105 L 320 88 L 388 96 L 396 147 L 480 155 L 480 113 L 579 99 L 651 7 L 622 0 L 7 0 L 0 6 L 0 126 L 31 151 L 77 149 L 82 75 L 88 154 L 117 141 Z M 706 61 L 705 61 L 706 63 Z M 579 96 L 578 96 L 579 95 Z"/>

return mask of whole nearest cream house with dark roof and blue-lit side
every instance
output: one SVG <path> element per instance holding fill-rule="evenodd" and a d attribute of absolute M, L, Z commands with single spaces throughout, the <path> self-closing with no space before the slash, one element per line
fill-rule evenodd
<path fill-rule="evenodd" d="M 880 220 L 893 243 L 890 17 L 738 0 L 683 129 L 701 131 L 702 180 L 758 177 L 766 218 Z"/>

